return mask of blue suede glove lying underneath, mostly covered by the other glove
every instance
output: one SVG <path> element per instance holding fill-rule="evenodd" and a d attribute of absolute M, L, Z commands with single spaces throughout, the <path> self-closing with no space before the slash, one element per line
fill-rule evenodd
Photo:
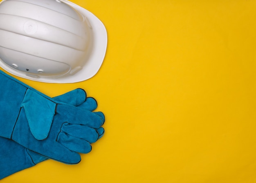
<path fill-rule="evenodd" d="M 97 108 L 96 100 L 92 97 L 86 98 L 86 93 L 82 89 L 72 90 L 58 97 L 54 97 L 54 99 L 84 108 L 85 110 L 93 111 Z M 100 127 L 96 131 L 98 132 L 98 139 L 100 139 L 104 134 L 104 129 Z M 88 137 L 86 139 L 90 139 L 90 133 L 87 135 Z M 0 144 L 0 179 L 30 168 L 47 159 L 11 139 L 0 137 Z"/>

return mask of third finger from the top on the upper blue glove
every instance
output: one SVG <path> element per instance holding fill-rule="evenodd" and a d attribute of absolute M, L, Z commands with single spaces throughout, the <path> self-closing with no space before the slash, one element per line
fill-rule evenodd
<path fill-rule="evenodd" d="M 60 132 L 58 135 L 58 142 L 74 152 L 86 154 L 92 150 L 92 146 L 88 141 L 70 136 L 64 132 Z"/>

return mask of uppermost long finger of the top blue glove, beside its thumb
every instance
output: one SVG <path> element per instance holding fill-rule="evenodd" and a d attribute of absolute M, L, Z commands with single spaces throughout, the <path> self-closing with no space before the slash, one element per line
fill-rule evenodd
<path fill-rule="evenodd" d="M 83 110 L 79 107 L 58 104 L 56 117 L 72 124 L 81 124 L 91 128 L 99 128 L 103 124 L 103 119 L 97 113 Z"/>

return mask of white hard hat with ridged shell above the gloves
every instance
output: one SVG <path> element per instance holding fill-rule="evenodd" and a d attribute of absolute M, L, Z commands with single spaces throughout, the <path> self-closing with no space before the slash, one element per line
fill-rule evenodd
<path fill-rule="evenodd" d="M 26 79 L 74 83 L 94 76 L 107 32 L 90 11 L 67 0 L 2 0 L 0 66 Z"/>

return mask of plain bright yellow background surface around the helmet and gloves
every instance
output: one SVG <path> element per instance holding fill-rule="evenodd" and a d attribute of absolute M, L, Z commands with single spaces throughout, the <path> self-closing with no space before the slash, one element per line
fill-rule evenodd
<path fill-rule="evenodd" d="M 256 1 L 72 0 L 105 24 L 84 88 L 105 135 L 78 165 L 48 160 L 3 183 L 256 183 Z"/>

